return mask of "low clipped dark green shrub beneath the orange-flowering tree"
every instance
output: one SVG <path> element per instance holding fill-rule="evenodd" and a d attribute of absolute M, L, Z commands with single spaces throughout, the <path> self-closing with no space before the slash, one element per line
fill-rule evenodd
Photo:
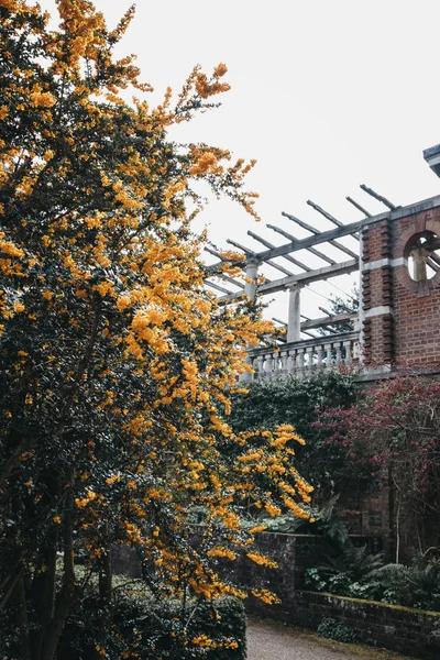
<path fill-rule="evenodd" d="M 64 660 L 244 660 L 245 615 L 241 601 L 223 596 L 213 602 L 157 602 L 136 581 L 114 601 L 110 632 L 103 639 L 96 625 L 102 620 L 97 590 L 70 616 L 61 642 Z M 118 591 L 117 591 L 118 593 Z M 125 656 L 124 656 L 125 654 Z"/>

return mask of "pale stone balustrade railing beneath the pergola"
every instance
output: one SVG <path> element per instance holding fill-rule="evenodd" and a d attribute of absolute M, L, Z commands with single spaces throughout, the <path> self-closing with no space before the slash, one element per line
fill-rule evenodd
<path fill-rule="evenodd" d="M 254 378 L 273 381 L 307 375 L 320 369 L 352 366 L 359 362 L 359 332 L 343 332 L 277 346 L 252 349 L 249 360 Z"/>

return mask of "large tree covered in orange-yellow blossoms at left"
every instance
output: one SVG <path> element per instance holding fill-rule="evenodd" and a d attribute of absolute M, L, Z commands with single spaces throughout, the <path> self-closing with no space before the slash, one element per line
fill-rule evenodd
<path fill-rule="evenodd" d="M 57 6 L 50 31 L 37 6 L 0 0 L 0 608 L 2 651 L 23 660 L 55 657 L 95 576 L 106 654 L 111 543 L 135 547 L 151 592 L 185 613 L 189 595 L 237 593 L 219 560 L 268 562 L 250 552 L 245 503 L 307 517 L 310 492 L 290 427 L 227 421 L 241 346 L 266 324 L 205 290 L 190 230 L 194 180 L 254 215 L 252 163 L 167 136 L 229 88 L 226 66 L 150 109 L 133 58 L 113 57 L 133 10 L 109 30 L 87 0 Z"/>

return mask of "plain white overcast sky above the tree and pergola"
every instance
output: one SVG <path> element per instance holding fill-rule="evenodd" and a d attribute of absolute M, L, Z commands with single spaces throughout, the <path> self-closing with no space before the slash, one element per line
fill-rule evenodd
<path fill-rule="evenodd" d="M 53 0 L 41 4 L 53 11 Z M 130 0 L 95 4 L 113 26 Z M 306 205 L 309 198 L 350 222 L 362 216 L 346 195 L 372 213 L 385 210 L 360 184 L 396 205 L 440 193 L 421 154 L 440 142 L 439 22 L 438 0 L 140 0 L 119 50 L 138 54 L 156 102 L 168 85 L 178 92 L 195 64 L 207 73 L 219 62 L 228 65 L 232 90 L 222 107 L 184 127 L 182 136 L 257 158 L 249 188 L 260 194 L 262 222 L 226 200 L 212 202 L 204 222 L 219 246 L 231 238 L 260 251 L 248 229 L 274 244 L 286 240 L 266 223 L 309 235 L 282 218 L 283 210 L 321 231 L 333 227 Z M 350 241 L 342 242 L 353 246 Z M 294 256 L 326 265 L 314 255 Z M 331 282 L 349 290 L 355 279 Z M 329 283 L 311 288 L 338 294 Z M 307 316 L 322 316 L 319 305 L 328 302 L 309 288 L 302 292 Z M 287 294 L 277 296 L 272 315 L 287 317 Z"/>

